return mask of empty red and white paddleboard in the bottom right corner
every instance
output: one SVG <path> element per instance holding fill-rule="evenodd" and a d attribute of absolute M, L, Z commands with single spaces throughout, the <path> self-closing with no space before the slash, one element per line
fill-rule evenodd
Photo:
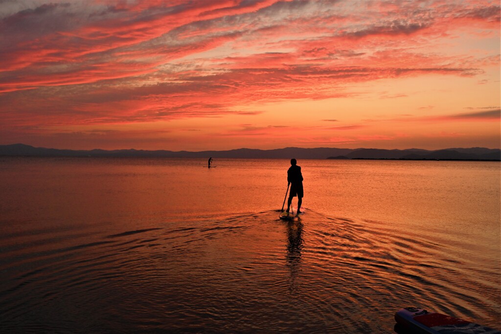
<path fill-rule="evenodd" d="M 395 321 L 411 333 L 424 334 L 501 334 L 501 331 L 446 314 L 428 312 L 417 307 L 405 307 L 395 313 Z"/>

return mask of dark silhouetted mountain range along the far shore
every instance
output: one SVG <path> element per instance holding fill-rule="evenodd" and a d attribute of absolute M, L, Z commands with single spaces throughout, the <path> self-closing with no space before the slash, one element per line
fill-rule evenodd
<path fill-rule="evenodd" d="M 275 150 L 240 148 L 228 151 L 145 151 L 145 150 L 59 150 L 24 144 L 0 145 L 4 156 L 64 157 L 163 157 L 163 158 L 251 158 L 251 159 L 405 159 L 405 160 L 494 160 L 501 161 L 501 150 L 484 147 L 449 148 L 444 150 L 383 150 L 373 148 L 298 148 Z"/>

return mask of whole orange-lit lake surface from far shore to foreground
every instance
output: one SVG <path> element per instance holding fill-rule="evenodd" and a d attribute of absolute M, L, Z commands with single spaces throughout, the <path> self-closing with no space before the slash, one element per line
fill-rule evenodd
<path fill-rule="evenodd" d="M 501 329 L 500 164 L 0 158 L 0 332 Z M 293 202 L 296 205 L 297 200 Z"/>

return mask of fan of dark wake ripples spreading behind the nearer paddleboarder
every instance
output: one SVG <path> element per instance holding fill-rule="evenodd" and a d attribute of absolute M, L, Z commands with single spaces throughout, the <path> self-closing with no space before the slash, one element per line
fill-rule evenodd
<path fill-rule="evenodd" d="M 499 319 L 499 266 L 458 257 L 461 244 L 314 211 L 276 216 L 37 233 L 0 258 L 0 329 L 391 332 L 393 312 L 416 304 Z"/>

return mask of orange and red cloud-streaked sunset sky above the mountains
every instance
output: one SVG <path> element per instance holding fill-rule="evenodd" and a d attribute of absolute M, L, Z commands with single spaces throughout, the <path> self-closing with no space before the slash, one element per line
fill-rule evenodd
<path fill-rule="evenodd" d="M 0 144 L 500 147 L 499 1 L 0 2 Z"/>

